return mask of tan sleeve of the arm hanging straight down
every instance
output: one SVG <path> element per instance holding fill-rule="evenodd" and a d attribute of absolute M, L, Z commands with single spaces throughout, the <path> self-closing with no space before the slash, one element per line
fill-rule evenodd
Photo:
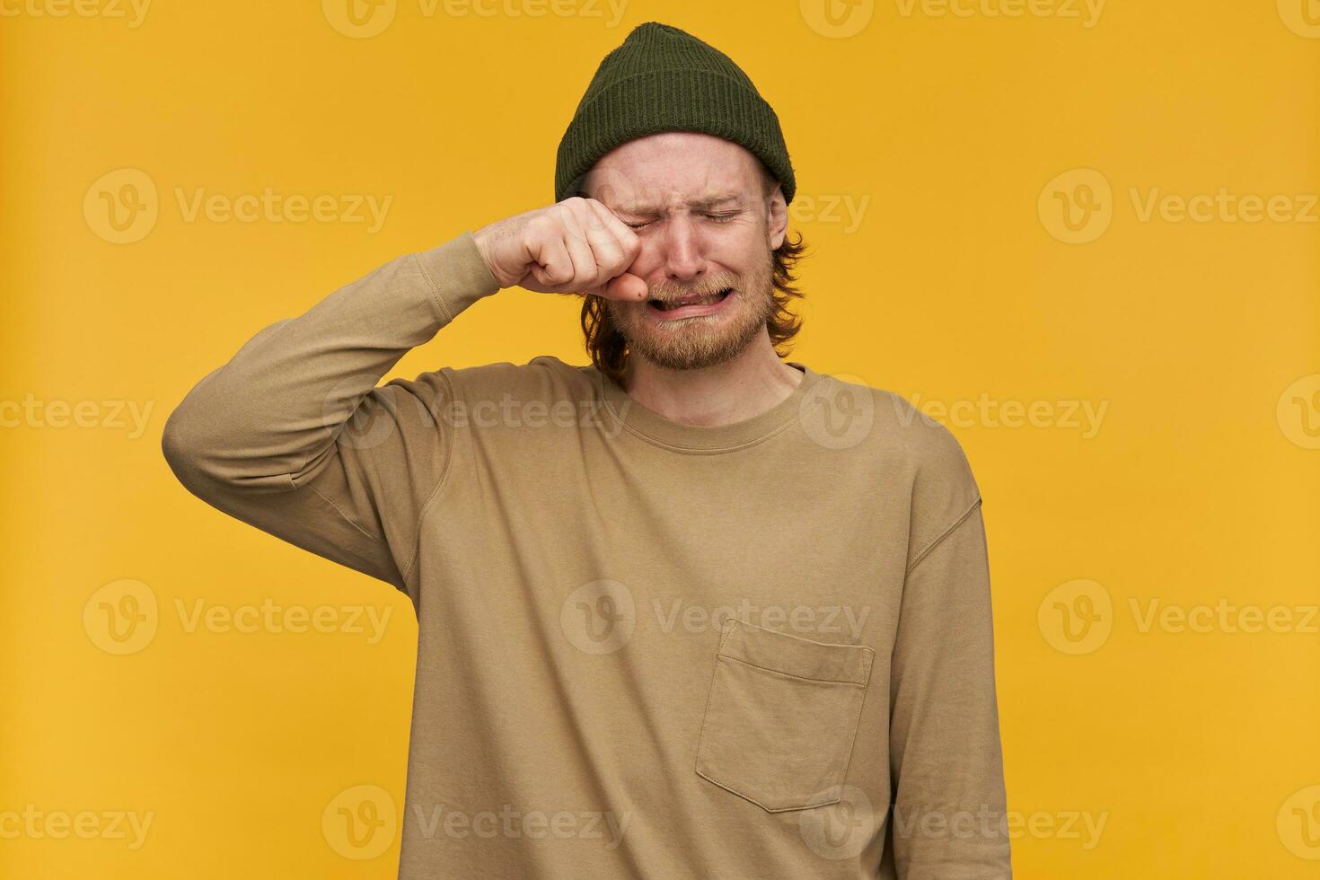
<path fill-rule="evenodd" d="M 979 497 L 908 569 L 890 699 L 895 876 L 1011 877 Z"/>

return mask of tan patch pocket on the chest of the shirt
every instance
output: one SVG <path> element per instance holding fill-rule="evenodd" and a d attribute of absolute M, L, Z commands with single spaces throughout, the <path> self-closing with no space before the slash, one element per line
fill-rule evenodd
<path fill-rule="evenodd" d="M 875 652 L 725 621 L 697 774 L 770 813 L 837 803 Z"/>

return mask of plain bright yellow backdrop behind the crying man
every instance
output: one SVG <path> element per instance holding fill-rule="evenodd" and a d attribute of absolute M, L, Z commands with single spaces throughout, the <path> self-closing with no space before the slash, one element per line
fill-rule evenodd
<path fill-rule="evenodd" d="M 991 15 L 1023 8 L 1011 0 L 968 0 L 970 15 L 891 0 L 840 3 L 833 20 L 818 0 L 432 15 L 397 0 L 370 37 L 345 33 L 346 0 L 161 0 L 136 26 L 108 1 L 78 15 L 4 0 L 0 18 L 0 401 L 95 404 L 92 426 L 38 408 L 0 430 L 0 813 L 153 819 L 136 848 L 0 838 L 0 876 L 395 876 L 397 843 L 343 858 L 322 813 L 354 786 L 401 801 L 411 608 L 190 496 L 161 427 L 260 327 L 548 203 L 582 90 L 649 20 L 729 53 L 780 116 L 792 228 L 813 245 L 793 359 L 962 401 L 946 424 L 985 497 L 1016 876 L 1320 871 L 1320 635 L 1305 625 L 1320 602 L 1320 210 L 1142 215 L 1156 190 L 1305 211 L 1320 191 L 1315 0 L 1110 0 L 1098 18 L 1073 0 L 1018 16 Z M 115 244 L 83 203 L 120 169 L 149 178 L 158 216 Z M 265 187 L 392 201 L 372 232 L 187 219 L 177 195 Z M 1069 199 L 1107 227 L 1060 240 L 1049 206 Z M 583 363 L 576 317 L 572 298 L 506 292 L 391 376 Z M 1041 416 L 966 417 L 978 400 Z M 152 406 L 144 430 L 116 427 L 104 401 Z M 1081 404 L 1106 408 L 1097 430 L 1069 420 Z M 158 621 L 115 654 L 84 610 L 125 579 Z M 1078 591 L 1100 600 L 1080 646 L 1065 617 L 1086 611 Z M 176 604 L 268 599 L 392 616 L 372 645 L 189 632 Z M 1143 625 L 1151 603 L 1196 617 L 1221 600 L 1282 606 L 1294 625 L 1241 632 L 1232 611 L 1205 632 Z"/>

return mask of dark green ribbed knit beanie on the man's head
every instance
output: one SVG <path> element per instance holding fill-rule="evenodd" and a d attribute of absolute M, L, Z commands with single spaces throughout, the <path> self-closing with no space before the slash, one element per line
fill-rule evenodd
<path fill-rule="evenodd" d="M 659 132 L 705 132 L 747 148 L 793 201 L 793 166 L 779 117 L 729 55 L 648 21 L 601 62 L 560 141 L 554 201 L 577 195 L 597 160 Z"/>

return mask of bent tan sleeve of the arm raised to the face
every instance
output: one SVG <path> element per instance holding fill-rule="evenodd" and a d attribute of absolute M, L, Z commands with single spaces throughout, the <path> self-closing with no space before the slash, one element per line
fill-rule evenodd
<path fill-rule="evenodd" d="M 213 507 L 407 590 L 451 439 L 449 379 L 378 383 L 498 289 L 469 231 L 385 263 L 203 376 L 165 424 L 166 462 Z"/>

